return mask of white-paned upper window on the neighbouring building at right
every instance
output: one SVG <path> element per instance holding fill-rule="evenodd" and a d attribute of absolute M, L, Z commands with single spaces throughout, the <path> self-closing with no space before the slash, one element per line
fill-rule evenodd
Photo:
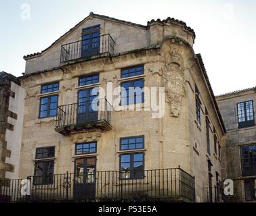
<path fill-rule="evenodd" d="M 238 128 L 255 126 L 253 101 L 246 101 L 237 104 Z"/>

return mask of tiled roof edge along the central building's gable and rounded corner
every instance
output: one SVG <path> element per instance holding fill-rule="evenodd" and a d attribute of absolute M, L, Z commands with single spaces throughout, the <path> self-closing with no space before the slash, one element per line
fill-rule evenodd
<path fill-rule="evenodd" d="M 195 34 L 194 30 L 192 28 L 188 27 L 186 22 L 183 22 L 183 21 L 180 21 L 180 20 L 175 20 L 174 18 L 170 18 L 170 17 L 165 19 L 165 20 L 157 19 L 156 21 L 155 20 L 148 21 L 147 26 L 144 26 L 144 25 L 141 25 L 141 24 L 135 24 L 133 22 L 128 22 L 128 21 L 125 21 L 125 20 L 119 20 L 119 19 L 116 19 L 116 18 L 111 18 L 109 16 L 104 16 L 104 15 L 100 15 L 100 14 L 93 14 L 93 12 L 91 12 L 89 14 L 89 16 L 87 16 L 85 19 L 83 19 L 81 22 L 79 22 L 73 28 L 70 28 L 70 30 L 68 30 L 68 32 L 66 32 L 65 34 L 60 36 L 60 38 L 58 38 L 56 41 L 54 41 L 54 43 L 52 43 L 49 47 L 47 47 L 46 49 L 44 49 L 43 51 L 41 51 L 39 53 L 32 53 L 30 55 L 24 55 L 23 58 L 26 60 L 26 59 L 29 59 L 30 57 L 36 57 L 37 55 L 43 54 L 43 52 L 47 51 L 48 49 L 50 49 L 51 47 L 56 45 L 56 43 L 58 43 L 62 38 L 64 38 L 64 36 L 66 36 L 69 32 L 74 30 L 74 28 L 77 28 L 77 26 L 79 26 L 82 22 L 87 20 L 89 17 L 101 18 L 101 19 L 105 19 L 105 20 L 111 20 L 111 21 L 114 21 L 114 22 L 120 22 L 122 24 L 127 24 L 127 25 L 131 25 L 131 26 L 135 26 L 137 28 L 145 28 L 145 29 L 148 28 L 148 26 L 150 26 L 150 24 L 153 24 L 153 23 L 161 23 L 161 24 L 163 24 L 163 23 L 166 23 L 166 22 L 171 22 L 171 23 L 175 23 L 175 24 L 179 24 L 179 25 L 184 26 L 184 28 L 186 30 L 190 31 L 193 34 L 194 38 L 196 38 L 196 34 Z"/>

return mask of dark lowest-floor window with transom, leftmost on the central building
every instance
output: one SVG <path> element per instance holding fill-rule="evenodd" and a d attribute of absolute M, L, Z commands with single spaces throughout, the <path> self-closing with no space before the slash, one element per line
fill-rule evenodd
<path fill-rule="evenodd" d="M 54 160 L 50 158 L 55 155 L 55 147 L 37 148 L 36 159 L 47 159 L 49 161 L 37 161 L 35 163 L 35 185 L 47 185 L 54 183 Z"/>

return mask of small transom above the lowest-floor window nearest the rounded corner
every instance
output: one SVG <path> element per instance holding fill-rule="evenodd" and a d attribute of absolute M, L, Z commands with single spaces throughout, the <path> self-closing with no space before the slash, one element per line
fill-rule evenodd
<path fill-rule="evenodd" d="M 121 138 L 120 144 L 121 144 L 120 146 L 121 150 L 144 148 L 144 136 Z"/>

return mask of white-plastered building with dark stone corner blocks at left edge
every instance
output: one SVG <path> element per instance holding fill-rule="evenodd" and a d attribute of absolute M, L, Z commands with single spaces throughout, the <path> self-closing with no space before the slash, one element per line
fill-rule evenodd
<path fill-rule="evenodd" d="M 23 107 L 20 80 L 0 72 L 0 180 L 19 178 Z"/>

